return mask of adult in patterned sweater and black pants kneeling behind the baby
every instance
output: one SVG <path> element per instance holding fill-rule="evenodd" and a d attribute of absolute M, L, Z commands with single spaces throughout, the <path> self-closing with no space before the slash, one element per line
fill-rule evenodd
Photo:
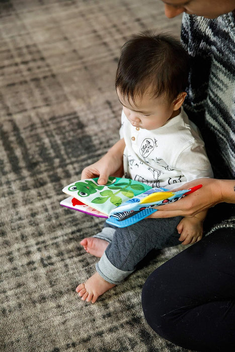
<path fill-rule="evenodd" d="M 202 131 L 215 179 L 201 179 L 201 190 L 154 213 L 154 217 L 193 216 L 210 208 L 207 236 L 149 276 L 142 307 L 152 329 L 177 345 L 231 351 L 235 348 L 235 1 L 163 2 L 169 18 L 184 12 L 181 39 L 191 56 L 184 109 Z"/>

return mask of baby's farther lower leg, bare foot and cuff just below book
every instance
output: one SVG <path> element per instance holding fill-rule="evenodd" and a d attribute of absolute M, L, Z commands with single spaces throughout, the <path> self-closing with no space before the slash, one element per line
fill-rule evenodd
<path fill-rule="evenodd" d="M 116 228 L 105 223 L 101 232 L 97 233 L 95 236 L 84 238 L 80 244 L 84 247 L 86 252 L 100 258 L 109 243 L 112 242 L 115 230 Z"/>

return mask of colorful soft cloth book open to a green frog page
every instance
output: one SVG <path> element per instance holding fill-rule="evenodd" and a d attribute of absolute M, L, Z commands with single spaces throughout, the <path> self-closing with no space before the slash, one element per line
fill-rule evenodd
<path fill-rule="evenodd" d="M 202 187 L 172 192 L 130 179 L 110 177 L 106 185 L 97 181 L 98 178 L 81 180 L 64 187 L 62 191 L 70 197 L 60 205 L 107 218 L 107 223 L 117 227 L 134 224 L 157 211 L 154 206 L 175 202 Z"/>

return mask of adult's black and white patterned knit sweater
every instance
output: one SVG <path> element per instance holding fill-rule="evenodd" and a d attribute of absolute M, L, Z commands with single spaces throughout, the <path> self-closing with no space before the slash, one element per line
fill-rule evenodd
<path fill-rule="evenodd" d="M 181 40 L 190 54 L 184 109 L 201 130 L 217 179 L 235 178 L 235 20 L 183 15 Z M 222 203 L 209 212 L 209 232 L 235 228 L 235 208 Z"/>

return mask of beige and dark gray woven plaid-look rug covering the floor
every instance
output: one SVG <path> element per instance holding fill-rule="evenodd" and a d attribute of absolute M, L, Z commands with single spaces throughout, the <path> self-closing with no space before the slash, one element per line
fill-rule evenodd
<path fill-rule="evenodd" d="M 182 247 L 149 257 L 94 305 L 75 293 L 97 258 L 79 242 L 103 221 L 60 207 L 61 189 L 118 139 L 122 44 L 180 33 L 160 1 L 0 2 L 1 351 L 185 351 L 146 324 L 141 288 Z"/>

